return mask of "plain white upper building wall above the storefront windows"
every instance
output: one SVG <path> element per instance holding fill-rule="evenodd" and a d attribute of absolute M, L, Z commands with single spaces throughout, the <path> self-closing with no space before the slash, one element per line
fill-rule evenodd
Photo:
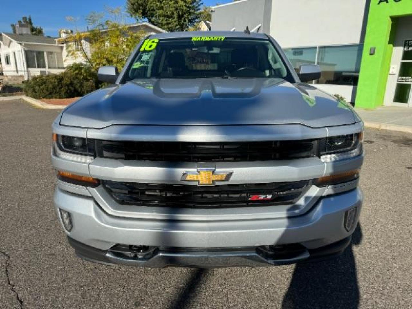
<path fill-rule="evenodd" d="M 273 0 L 270 35 L 282 48 L 358 44 L 367 2 Z"/>

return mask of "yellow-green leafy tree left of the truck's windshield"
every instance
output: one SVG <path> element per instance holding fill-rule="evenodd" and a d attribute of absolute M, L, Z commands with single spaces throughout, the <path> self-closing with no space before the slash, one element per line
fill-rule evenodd
<path fill-rule="evenodd" d="M 86 21 L 91 28 L 66 37 L 68 55 L 84 59 L 97 71 L 101 66 L 117 66 L 122 70 L 144 33 L 132 31 L 124 23 L 121 8 L 106 8 L 105 13 L 91 12 Z"/>

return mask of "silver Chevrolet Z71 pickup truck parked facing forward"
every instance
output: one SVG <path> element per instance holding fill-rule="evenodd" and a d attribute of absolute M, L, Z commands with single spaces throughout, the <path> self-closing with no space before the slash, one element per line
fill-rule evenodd
<path fill-rule="evenodd" d="M 107 265 L 270 266 L 335 257 L 363 195 L 363 122 L 265 34 L 150 35 L 52 125 L 54 204 Z"/>

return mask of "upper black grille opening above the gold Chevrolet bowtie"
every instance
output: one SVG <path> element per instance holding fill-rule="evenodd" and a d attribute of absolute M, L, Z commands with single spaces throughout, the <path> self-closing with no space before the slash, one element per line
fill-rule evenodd
<path fill-rule="evenodd" d="M 219 143 L 97 140 L 96 143 L 98 157 L 143 161 L 268 161 L 318 155 L 318 140 Z"/>

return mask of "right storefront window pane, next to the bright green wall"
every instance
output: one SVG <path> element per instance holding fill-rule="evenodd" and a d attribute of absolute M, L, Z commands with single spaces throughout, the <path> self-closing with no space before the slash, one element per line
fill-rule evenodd
<path fill-rule="evenodd" d="M 318 84 L 358 85 L 363 45 L 319 47 L 318 65 L 322 76 Z"/>

